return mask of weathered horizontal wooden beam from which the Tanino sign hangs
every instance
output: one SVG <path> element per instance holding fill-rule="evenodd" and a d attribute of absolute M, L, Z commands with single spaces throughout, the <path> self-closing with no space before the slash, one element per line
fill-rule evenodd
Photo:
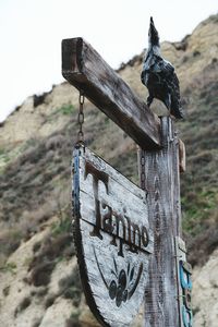
<path fill-rule="evenodd" d="M 62 40 L 62 75 L 142 148 L 160 148 L 159 118 L 83 38 Z"/>

